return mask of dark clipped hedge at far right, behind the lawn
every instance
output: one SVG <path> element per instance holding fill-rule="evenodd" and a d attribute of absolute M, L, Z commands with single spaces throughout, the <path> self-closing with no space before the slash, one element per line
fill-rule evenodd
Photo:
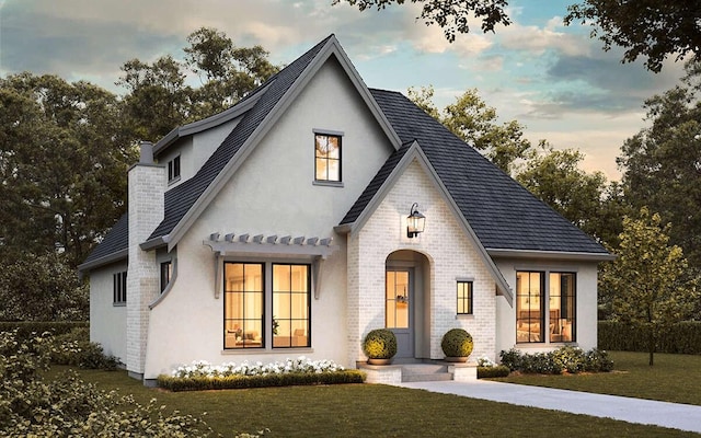
<path fill-rule="evenodd" d="M 647 327 L 632 327 L 616 321 L 599 321 L 600 348 L 620 351 L 647 351 Z M 660 333 L 658 353 L 701 355 L 701 321 L 682 321 Z"/>

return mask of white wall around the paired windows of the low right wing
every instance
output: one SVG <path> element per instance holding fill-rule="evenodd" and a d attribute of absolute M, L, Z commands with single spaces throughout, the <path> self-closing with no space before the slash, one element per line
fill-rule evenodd
<path fill-rule="evenodd" d="M 563 343 L 516 344 L 516 273 L 519 270 L 540 270 L 549 273 L 576 274 L 576 342 L 584 350 L 597 346 L 597 272 L 598 265 L 591 262 L 567 262 L 553 260 L 495 258 L 495 263 L 514 291 L 514 307 L 499 301 L 497 307 L 498 337 L 497 354 L 502 350 L 518 348 L 524 353 L 550 351 L 562 347 Z M 545 287 L 545 290 L 549 288 Z"/>

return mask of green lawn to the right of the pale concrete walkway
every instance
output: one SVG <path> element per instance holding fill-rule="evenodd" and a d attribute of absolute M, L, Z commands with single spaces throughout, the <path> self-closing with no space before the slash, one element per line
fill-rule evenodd
<path fill-rule="evenodd" d="M 701 405 L 701 356 L 609 351 L 613 372 L 597 374 L 522 374 L 494 379 L 503 382 L 560 388 Z"/>

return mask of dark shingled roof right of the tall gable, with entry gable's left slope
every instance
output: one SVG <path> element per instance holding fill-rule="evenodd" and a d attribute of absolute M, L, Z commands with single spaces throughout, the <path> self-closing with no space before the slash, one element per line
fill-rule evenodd
<path fill-rule="evenodd" d="M 370 91 L 404 146 L 388 159 L 341 223 L 358 218 L 416 140 L 485 249 L 608 254 L 404 95 Z"/>

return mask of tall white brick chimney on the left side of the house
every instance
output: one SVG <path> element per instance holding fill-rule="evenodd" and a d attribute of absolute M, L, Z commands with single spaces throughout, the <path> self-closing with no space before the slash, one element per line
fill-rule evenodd
<path fill-rule="evenodd" d="M 156 251 L 142 251 L 143 243 L 163 220 L 168 185 L 165 166 L 153 162 L 153 145 L 141 142 L 139 162 L 128 172 L 129 266 L 127 270 L 127 371 L 143 378 L 149 304 L 159 295 Z"/>

